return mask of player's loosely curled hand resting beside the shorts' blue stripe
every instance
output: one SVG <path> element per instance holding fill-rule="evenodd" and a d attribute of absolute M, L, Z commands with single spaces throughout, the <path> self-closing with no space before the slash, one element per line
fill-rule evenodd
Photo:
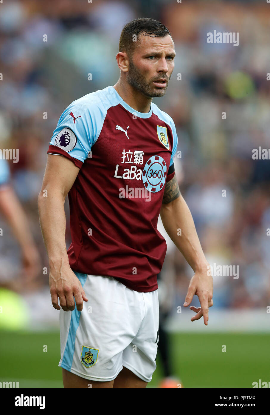
<path fill-rule="evenodd" d="M 75 309 L 76 302 L 77 310 L 82 311 L 83 302 L 88 301 L 82 284 L 69 265 L 61 266 L 58 270 L 50 267 L 49 286 L 52 304 L 56 310 L 60 310 L 61 306 L 64 311 L 72 311 Z"/>

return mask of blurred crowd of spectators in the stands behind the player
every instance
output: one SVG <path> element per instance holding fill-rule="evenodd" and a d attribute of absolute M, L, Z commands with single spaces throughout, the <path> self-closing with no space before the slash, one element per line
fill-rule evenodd
<path fill-rule="evenodd" d="M 39 293 L 36 298 L 39 295 L 41 301 L 40 293 L 48 286 L 37 195 L 53 130 L 73 100 L 116 83 L 119 35 L 124 24 L 137 17 L 161 20 L 175 42 L 168 92 L 154 102 L 174 119 L 176 174 L 207 260 L 239 266 L 239 278 L 214 276 L 214 305 L 266 308 L 270 164 L 252 159 L 253 149 L 270 148 L 270 5 L 266 2 L 0 3 L 0 148 L 19 149 L 18 163 L 9 162 L 11 183 L 27 213 L 42 262 L 39 278 L 29 290 Z M 239 46 L 207 44 L 207 32 L 214 29 L 239 32 Z M 67 202 L 65 210 L 68 247 Z M 8 280 L 18 273 L 20 252 L 5 219 L 0 219 L 5 234 L 0 237 L 0 279 Z M 192 270 L 174 247 L 169 260 L 175 272 L 174 302 L 183 304 Z"/>

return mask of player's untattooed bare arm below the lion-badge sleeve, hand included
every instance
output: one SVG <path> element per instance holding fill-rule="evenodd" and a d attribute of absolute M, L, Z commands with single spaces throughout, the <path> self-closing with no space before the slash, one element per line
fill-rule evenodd
<path fill-rule="evenodd" d="M 83 300 L 88 301 L 80 281 L 70 269 L 65 244 L 65 198 L 71 189 L 79 168 L 64 156 L 48 154 L 42 188 L 39 193 L 39 221 L 48 254 L 49 285 L 53 307 L 60 310 L 82 310 Z"/>

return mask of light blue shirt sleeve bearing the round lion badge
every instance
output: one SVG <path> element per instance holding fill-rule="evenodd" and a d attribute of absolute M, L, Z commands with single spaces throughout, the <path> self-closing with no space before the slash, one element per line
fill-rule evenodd
<path fill-rule="evenodd" d="M 88 94 L 92 95 L 92 94 Z M 101 132 L 106 110 L 88 95 L 73 101 L 59 118 L 50 144 L 82 162 Z"/>

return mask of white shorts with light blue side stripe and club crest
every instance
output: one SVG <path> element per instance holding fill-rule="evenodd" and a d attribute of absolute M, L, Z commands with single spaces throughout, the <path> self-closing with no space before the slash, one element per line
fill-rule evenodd
<path fill-rule="evenodd" d="M 113 277 L 75 272 L 88 302 L 60 310 L 58 366 L 92 381 L 112 381 L 123 366 L 145 382 L 156 369 L 158 293 L 139 293 Z"/>

